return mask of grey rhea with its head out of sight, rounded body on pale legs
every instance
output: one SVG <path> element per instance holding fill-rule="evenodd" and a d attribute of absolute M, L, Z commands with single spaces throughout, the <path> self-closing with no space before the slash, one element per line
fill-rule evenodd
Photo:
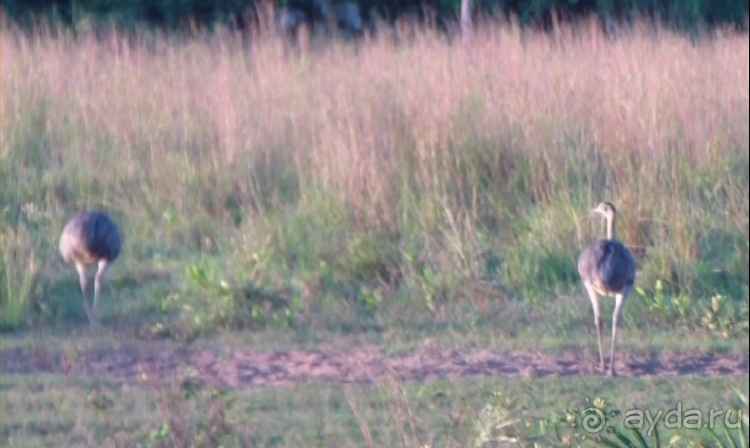
<path fill-rule="evenodd" d="M 120 232 L 117 225 L 104 213 L 80 212 L 71 219 L 60 237 L 60 253 L 66 263 L 75 263 L 81 280 L 83 306 L 89 322 L 99 320 L 97 307 L 102 279 L 109 266 L 120 254 Z M 86 268 L 97 265 L 94 279 L 93 313 L 89 310 L 86 294 Z"/>

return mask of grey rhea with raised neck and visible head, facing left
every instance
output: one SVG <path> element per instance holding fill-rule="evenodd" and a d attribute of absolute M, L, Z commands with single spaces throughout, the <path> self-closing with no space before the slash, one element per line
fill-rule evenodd
<path fill-rule="evenodd" d="M 609 376 L 615 376 L 615 343 L 617 324 L 622 307 L 635 283 L 635 258 L 627 247 L 617 241 L 617 210 L 610 202 L 602 202 L 594 210 L 607 221 L 607 237 L 598 239 L 586 247 L 578 258 L 578 273 L 591 299 L 594 308 L 596 336 L 599 342 L 599 368 L 604 371 L 604 350 L 602 348 L 602 317 L 599 309 L 599 296 L 614 296 L 615 309 L 612 313 L 612 349 L 609 359 Z"/>

